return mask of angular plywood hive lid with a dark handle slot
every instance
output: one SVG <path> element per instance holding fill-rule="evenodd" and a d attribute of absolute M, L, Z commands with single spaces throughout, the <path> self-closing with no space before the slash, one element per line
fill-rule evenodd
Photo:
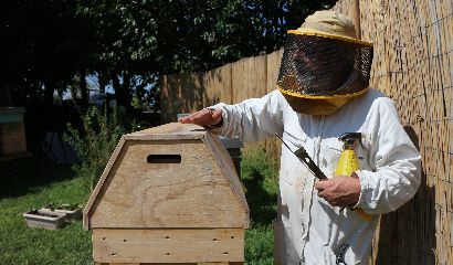
<path fill-rule="evenodd" d="M 122 137 L 84 210 L 96 227 L 247 229 L 249 206 L 219 138 L 173 123 Z"/>

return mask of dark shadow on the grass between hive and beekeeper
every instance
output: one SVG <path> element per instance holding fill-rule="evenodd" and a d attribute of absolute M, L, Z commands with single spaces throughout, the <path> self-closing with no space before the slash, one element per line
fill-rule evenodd
<path fill-rule="evenodd" d="M 246 189 L 251 220 L 260 225 L 270 225 L 276 216 L 276 194 L 265 190 L 264 176 L 257 169 L 252 169 L 250 178 L 243 179 L 242 182 Z"/>

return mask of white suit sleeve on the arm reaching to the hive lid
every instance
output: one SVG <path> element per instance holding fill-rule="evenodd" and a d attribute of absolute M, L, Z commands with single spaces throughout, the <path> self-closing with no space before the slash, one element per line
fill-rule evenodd
<path fill-rule="evenodd" d="M 274 132 L 282 135 L 282 104 L 285 103 L 283 95 L 273 91 L 262 98 L 251 98 L 235 105 L 217 104 L 211 108 L 223 110 L 223 125 L 212 131 L 225 137 L 239 136 L 244 141 L 262 140 Z"/>

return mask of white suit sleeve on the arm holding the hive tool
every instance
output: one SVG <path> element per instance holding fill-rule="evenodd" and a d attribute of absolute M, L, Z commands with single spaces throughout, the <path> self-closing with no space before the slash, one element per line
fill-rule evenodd
<path fill-rule="evenodd" d="M 376 171 L 358 171 L 361 192 L 357 208 L 369 214 L 391 212 L 409 201 L 421 181 L 421 157 L 402 128 L 389 98 L 378 99 L 370 147 Z"/>

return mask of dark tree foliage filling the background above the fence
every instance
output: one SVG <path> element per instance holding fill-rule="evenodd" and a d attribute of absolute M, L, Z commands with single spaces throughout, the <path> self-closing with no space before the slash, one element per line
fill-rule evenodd
<path fill-rule="evenodd" d="M 335 2 L 8 0 L 0 11 L 0 89 L 24 105 L 95 73 L 110 82 L 120 105 L 135 98 L 156 107 L 159 75 L 275 51 L 288 29 Z"/>

